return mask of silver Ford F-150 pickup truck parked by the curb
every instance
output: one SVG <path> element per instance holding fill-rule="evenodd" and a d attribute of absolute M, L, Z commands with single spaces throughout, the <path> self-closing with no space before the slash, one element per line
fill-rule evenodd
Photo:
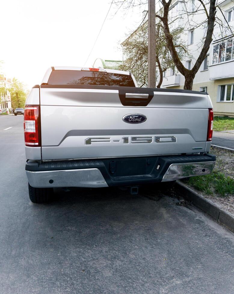
<path fill-rule="evenodd" d="M 129 72 L 51 67 L 24 113 L 34 203 L 54 187 L 131 187 L 211 173 L 213 109 L 206 92 L 138 88 Z"/>

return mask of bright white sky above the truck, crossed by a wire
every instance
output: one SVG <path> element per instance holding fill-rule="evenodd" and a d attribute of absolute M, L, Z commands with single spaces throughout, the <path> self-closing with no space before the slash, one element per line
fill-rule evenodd
<path fill-rule="evenodd" d="M 84 66 L 111 0 L 11 0 L 1 2 L 0 60 L 8 77 L 30 87 L 50 66 Z M 97 57 L 121 59 L 119 42 L 134 30 L 143 8 L 127 15 L 112 4 L 86 66 Z"/>

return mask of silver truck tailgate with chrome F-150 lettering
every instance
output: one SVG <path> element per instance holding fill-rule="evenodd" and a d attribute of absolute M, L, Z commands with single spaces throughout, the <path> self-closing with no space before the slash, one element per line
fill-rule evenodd
<path fill-rule="evenodd" d="M 42 159 L 205 152 L 207 95 L 119 88 L 42 85 Z M 123 102 L 121 95 L 126 93 L 149 93 L 152 97 L 145 104 L 137 98 Z M 127 123 L 123 117 L 128 114 L 141 114 L 146 120 Z"/>

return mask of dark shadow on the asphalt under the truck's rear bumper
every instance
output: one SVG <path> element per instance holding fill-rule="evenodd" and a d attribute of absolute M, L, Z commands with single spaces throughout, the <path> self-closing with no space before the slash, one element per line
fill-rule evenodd
<path fill-rule="evenodd" d="M 135 230 L 139 226 L 151 226 L 152 220 L 158 224 L 170 223 L 177 210 L 186 209 L 177 206 L 179 200 L 170 196 L 170 192 L 166 195 L 155 191 L 154 187 L 141 187 L 137 195 L 115 187 L 74 188 L 67 192 L 55 189 L 54 192 L 53 201 L 34 206 L 40 222 L 44 222 L 44 227 L 51 231 L 55 226 L 57 229 L 72 226 L 72 230 L 79 233 L 82 233 L 82 229 L 104 232 L 109 228 L 113 233 L 119 234 L 120 227 L 126 231 Z M 159 226 L 158 229 L 162 228 Z"/>

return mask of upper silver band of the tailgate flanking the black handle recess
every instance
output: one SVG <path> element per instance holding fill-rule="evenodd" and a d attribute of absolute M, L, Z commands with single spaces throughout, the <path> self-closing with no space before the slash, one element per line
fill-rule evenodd
<path fill-rule="evenodd" d="M 116 90 L 41 88 L 41 105 L 125 107 Z M 208 95 L 175 92 L 154 92 L 154 97 L 145 108 L 205 108 L 208 109 Z M 132 107 L 132 113 L 139 113 L 139 107 Z"/>

